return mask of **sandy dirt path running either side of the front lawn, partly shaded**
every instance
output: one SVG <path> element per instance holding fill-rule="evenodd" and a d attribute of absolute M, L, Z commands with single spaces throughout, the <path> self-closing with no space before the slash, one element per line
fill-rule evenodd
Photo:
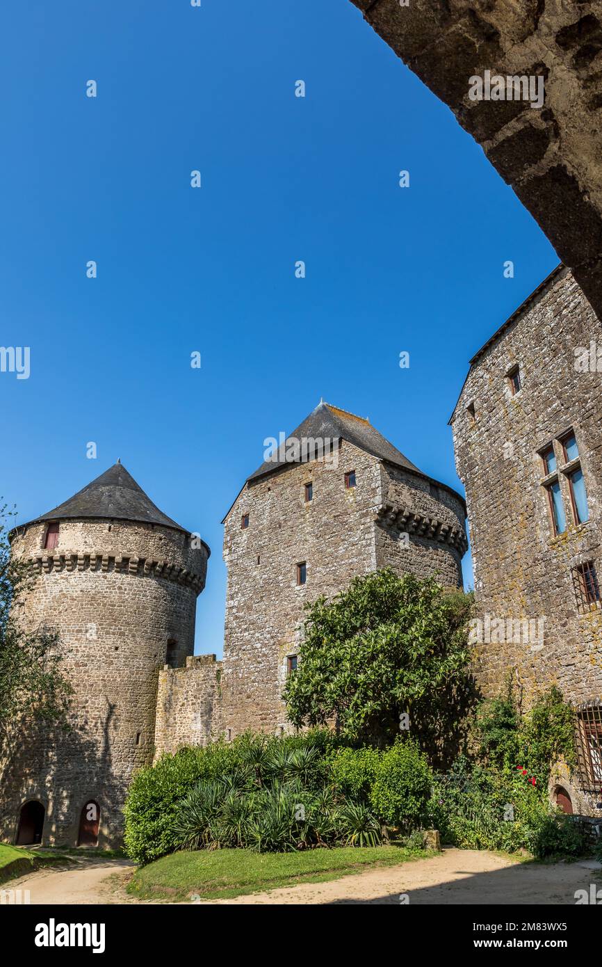
<path fill-rule="evenodd" d="M 83 861 L 68 869 L 40 870 L 12 880 L 10 886 L 29 890 L 32 904 L 139 903 L 125 891 L 132 867 L 127 860 Z M 519 864 L 486 851 L 445 849 L 430 860 L 367 869 L 329 883 L 201 902 L 574 904 L 576 890 L 588 890 L 591 883 L 600 887 L 599 875 L 600 864 Z M 405 894 L 403 899 L 400 894 Z"/>

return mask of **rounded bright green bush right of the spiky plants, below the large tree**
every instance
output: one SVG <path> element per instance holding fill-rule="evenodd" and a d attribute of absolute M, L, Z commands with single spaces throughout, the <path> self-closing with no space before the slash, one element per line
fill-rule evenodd
<path fill-rule="evenodd" d="M 417 743 L 397 739 L 378 761 L 370 803 L 380 819 L 409 833 L 424 817 L 432 781 Z"/>

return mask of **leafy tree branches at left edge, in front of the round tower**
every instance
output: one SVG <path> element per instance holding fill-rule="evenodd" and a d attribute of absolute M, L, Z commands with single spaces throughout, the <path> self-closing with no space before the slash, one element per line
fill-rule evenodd
<path fill-rule="evenodd" d="M 9 525 L 14 512 L 0 508 L 0 758 L 15 724 L 26 715 L 67 727 L 72 687 L 61 674 L 64 649 L 58 634 L 25 630 L 19 620 L 33 576 L 11 556 Z"/>

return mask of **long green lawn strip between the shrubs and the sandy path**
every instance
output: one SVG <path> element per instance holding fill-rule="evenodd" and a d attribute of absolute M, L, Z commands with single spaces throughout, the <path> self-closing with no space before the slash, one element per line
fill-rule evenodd
<path fill-rule="evenodd" d="M 296 883 L 336 880 L 371 866 L 390 866 L 434 856 L 400 846 L 339 846 L 299 853 L 254 853 L 246 849 L 173 853 L 139 867 L 128 891 L 142 899 L 211 899 L 272 890 Z"/>

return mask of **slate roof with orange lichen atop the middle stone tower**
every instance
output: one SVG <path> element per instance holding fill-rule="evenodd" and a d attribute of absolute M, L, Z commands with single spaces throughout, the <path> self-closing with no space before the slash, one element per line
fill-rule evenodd
<path fill-rule="evenodd" d="M 353 413 L 347 413 L 346 410 L 339 410 L 336 406 L 330 406 L 330 403 L 320 402 L 290 436 L 298 440 L 315 439 L 316 437 L 336 439 L 337 441 L 339 439 L 347 440 L 358 447 L 359 450 L 378 456 L 379 459 L 403 467 L 404 470 L 412 470 L 417 474 L 421 473 L 407 456 L 393 447 L 392 443 L 389 443 L 383 434 L 379 433 L 378 429 L 370 425 L 367 420 L 364 420 L 363 417 L 357 417 Z M 284 456 L 284 454 L 282 455 Z M 247 481 L 255 481 L 285 465 L 290 466 L 286 459 L 266 460 L 255 473 L 247 477 Z"/>

